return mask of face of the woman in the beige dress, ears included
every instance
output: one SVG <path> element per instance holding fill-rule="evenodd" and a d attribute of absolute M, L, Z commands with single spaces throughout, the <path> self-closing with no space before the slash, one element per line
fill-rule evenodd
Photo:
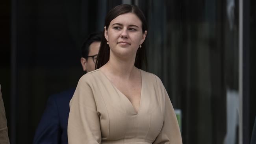
<path fill-rule="evenodd" d="M 125 13 L 113 19 L 105 28 L 105 38 L 109 42 L 110 57 L 134 58 L 139 45 L 146 38 L 142 32 L 141 20 L 134 13 Z"/>

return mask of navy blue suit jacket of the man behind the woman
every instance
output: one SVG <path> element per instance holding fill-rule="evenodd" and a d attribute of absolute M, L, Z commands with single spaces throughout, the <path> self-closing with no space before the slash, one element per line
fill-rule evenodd
<path fill-rule="evenodd" d="M 33 144 L 68 144 L 69 101 L 74 91 L 70 89 L 48 98 Z"/>

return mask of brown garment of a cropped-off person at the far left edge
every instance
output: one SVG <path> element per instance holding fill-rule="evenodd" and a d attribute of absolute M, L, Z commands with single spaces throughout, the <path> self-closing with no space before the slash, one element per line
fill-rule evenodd
<path fill-rule="evenodd" d="M 4 101 L 2 99 L 1 85 L 0 85 L 0 144 L 9 144 L 6 112 L 4 110 Z"/>

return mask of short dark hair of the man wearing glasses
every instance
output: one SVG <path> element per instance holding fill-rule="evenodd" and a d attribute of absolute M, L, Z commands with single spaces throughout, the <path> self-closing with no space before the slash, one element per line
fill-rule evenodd
<path fill-rule="evenodd" d="M 89 54 L 89 47 L 93 42 L 100 42 L 102 39 L 102 32 L 94 32 L 88 35 L 81 47 L 82 57 L 87 59 Z"/>

